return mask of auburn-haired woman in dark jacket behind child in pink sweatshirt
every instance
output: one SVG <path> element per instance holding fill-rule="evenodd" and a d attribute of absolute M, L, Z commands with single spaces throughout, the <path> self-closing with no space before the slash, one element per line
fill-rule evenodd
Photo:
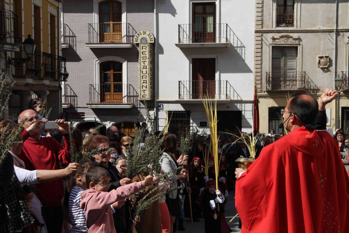
<path fill-rule="evenodd" d="M 96 148 L 101 148 L 102 150 L 107 150 L 110 148 L 110 141 L 106 136 L 103 135 L 95 135 L 91 138 L 91 140 L 86 145 L 85 150 L 92 150 Z M 106 169 L 110 174 L 110 186 L 108 189 L 108 192 L 117 189 L 121 187 L 122 185 L 130 184 L 132 182 L 132 179 L 123 178 L 121 174 L 119 173 L 119 170 L 117 167 L 114 167 L 113 164 L 110 162 L 111 159 L 111 153 L 104 152 L 104 153 L 98 153 L 94 156 L 95 159 L 95 165 L 102 167 Z M 119 156 L 115 157 L 116 161 Z M 121 166 L 121 165 L 120 165 Z M 126 211 L 125 211 L 125 201 L 120 201 L 119 205 L 115 207 L 115 212 L 113 213 L 113 219 L 114 219 L 114 226 L 116 232 L 129 232 L 129 220 L 125 219 L 126 217 Z M 120 221 L 120 219 L 125 219 L 125 221 Z"/>

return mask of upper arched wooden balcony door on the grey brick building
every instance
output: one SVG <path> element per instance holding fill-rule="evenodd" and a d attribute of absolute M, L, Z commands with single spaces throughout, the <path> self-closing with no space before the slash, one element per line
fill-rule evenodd
<path fill-rule="evenodd" d="M 99 37 L 101 42 L 121 42 L 122 9 L 119 1 L 99 3 Z"/>

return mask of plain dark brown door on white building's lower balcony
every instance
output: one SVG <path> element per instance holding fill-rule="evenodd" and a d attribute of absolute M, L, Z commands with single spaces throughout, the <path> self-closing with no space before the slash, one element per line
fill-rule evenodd
<path fill-rule="evenodd" d="M 193 58 L 192 60 L 192 99 L 202 99 L 208 95 L 215 99 L 216 59 Z"/>

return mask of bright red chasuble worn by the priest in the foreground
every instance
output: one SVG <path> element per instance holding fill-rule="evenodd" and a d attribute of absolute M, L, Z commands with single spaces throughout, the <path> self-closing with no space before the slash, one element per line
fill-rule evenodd
<path fill-rule="evenodd" d="M 241 232 L 349 232 L 349 179 L 326 131 L 299 128 L 263 148 L 235 195 Z"/>

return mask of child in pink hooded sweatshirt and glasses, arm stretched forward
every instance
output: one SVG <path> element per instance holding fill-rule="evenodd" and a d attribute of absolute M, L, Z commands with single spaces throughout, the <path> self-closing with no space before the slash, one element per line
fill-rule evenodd
<path fill-rule="evenodd" d="M 86 174 L 89 189 L 81 193 L 80 207 L 86 212 L 88 232 L 114 232 L 114 221 L 110 205 L 135 194 L 153 183 L 153 176 L 107 192 L 110 186 L 110 174 L 101 167 L 92 167 Z"/>

